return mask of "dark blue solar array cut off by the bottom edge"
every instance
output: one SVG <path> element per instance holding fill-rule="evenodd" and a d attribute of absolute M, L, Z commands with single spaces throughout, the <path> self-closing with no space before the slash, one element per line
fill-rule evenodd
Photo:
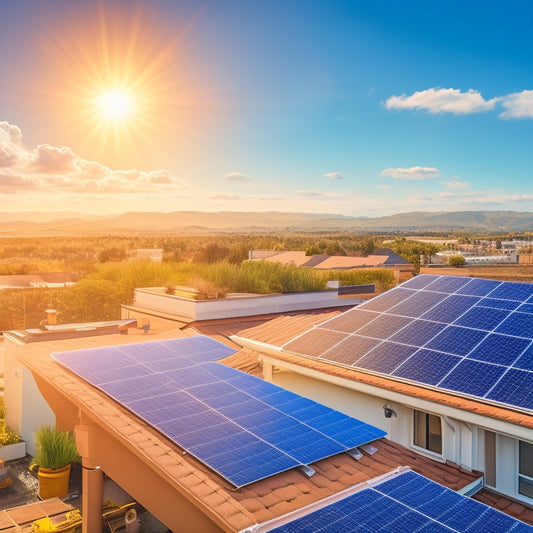
<path fill-rule="evenodd" d="M 531 533 L 533 527 L 408 471 L 270 531 Z"/>

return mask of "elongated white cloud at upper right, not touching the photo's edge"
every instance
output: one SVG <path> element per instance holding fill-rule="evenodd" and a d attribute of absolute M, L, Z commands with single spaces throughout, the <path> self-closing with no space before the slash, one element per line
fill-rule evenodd
<path fill-rule="evenodd" d="M 464 115 L 479 113 L 494 108 L 497 98 L 485 100 L 479 91 L 469 89 L 461 92 L 460 89 L 432 88 L 417 91 L 410 96 L 391 96 L 385 102 L 387 109 L 422 109 L 430 113 L 453 113 Z"/>

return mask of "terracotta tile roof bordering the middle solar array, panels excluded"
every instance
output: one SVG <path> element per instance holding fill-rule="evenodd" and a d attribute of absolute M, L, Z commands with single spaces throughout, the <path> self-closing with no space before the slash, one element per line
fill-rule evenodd
<path fill-rule="evenodd" d="M 151 336 L 150 340 L 183 335 L 173 331 Z M 393 470 L 410 466 L 416 472 L 450 488 L 470 484 L 479 475 L 462 471 L 452 464 L 440 464 L 411 450 L 381 439 L 375 443 L 374 455 L 364 454 L 355 461 L 346 454 L 319 461 L 313 465 L 315 476 L 305 477 L 299 471 L 288 471 L 234 490 L 199 461 L 183 455 L 175 444 L 162 437 L 143 420 L 108 398 L 85 381 L 54 362 L 50 354 L 112 344 L 140 341 L 135 335 L 89 337 L 35 343 L 17 347 L 17 358 L 32 373 L 46 380 L 64 398 L 87 413 L 95 423 L 105 427 L 126 449 L 142 457 L 172 490 L 185 495 L 194 505 L 214 517 L 225 530 L 240 531 L 255 523 L 280 516 L 347 488 Z M 120 480 L 116 480 L 120 483 Z M 142 503 L 142 502 L 141 502 Z"/>

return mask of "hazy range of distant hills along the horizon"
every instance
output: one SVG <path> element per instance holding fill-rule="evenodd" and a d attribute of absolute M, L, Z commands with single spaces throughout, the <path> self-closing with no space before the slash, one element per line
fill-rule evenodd
<path fill-rule="evenodd" d="M 176 211 L 114 216 L 80 213 L 1 213 L 0 235 L 86 235 L 116 233 L 360 231 L 430 233 L 533 231 L 533 213 L 514 211 L 411 212 L 378 218 L 334 214 Z"/>

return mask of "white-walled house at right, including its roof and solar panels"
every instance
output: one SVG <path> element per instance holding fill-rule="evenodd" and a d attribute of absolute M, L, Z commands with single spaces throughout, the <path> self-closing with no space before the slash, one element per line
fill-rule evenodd
<path fill-rule="evenodd" d="M 532 310 L 531 284 L 422 275 L 318 327 L 280 318 L 232 339 L 266 379 L 532 505 Z"/>

